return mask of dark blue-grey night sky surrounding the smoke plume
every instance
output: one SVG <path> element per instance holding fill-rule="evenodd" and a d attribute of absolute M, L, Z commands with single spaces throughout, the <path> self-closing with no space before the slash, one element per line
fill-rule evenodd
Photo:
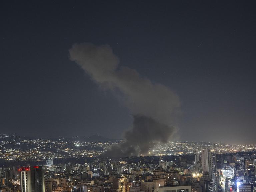
<path fill-rule="evenodd" d="M 254 1 L 3 1 L 0 133 L 122 138 L 125 105 L 70 61 L 108 44 L 121 66 L 180 99 L 176 140 L 254 143 Z"/>

